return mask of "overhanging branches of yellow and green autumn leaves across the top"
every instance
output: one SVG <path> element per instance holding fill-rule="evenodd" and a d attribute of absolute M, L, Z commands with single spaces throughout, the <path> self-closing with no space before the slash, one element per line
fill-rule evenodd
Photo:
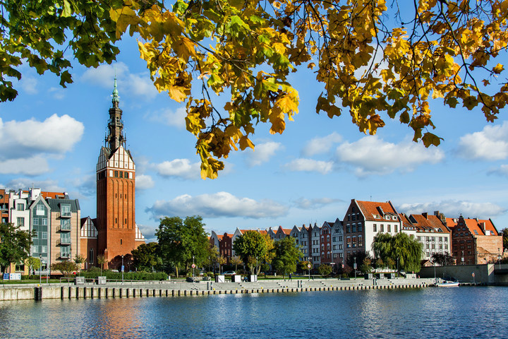
<path fill-rule="evenodd" d="M 435 129 L 430 98 L 452 108 L 478 106 L 490 122 L 508 101 L 498 63 L 508 40 L 504 1 L 165 4 L 4 1 L 0 100 L 16 97 L 10 79 L 20 79 L 23 59 L 65 86 L 72 81 L 68 54 L 85 66 L 110 63 L 119 52 L 114 43 L 128 30 L 139 37 L 155 87 L 186 102 L 203 178 L 217 177 L 231 150 L 254 148 L 249 137 L 258 123 L 284 131 L 299 103 L 289 73 L 305 68 L 323 89 L 316 112 L 329 118 L 349 112 L 359 131 L 370 134 L 397 119 L 427 147 L 440 144 L 429 131 Z M 226 91 L 224 107 L 213 105 L 212 97 Z"/>

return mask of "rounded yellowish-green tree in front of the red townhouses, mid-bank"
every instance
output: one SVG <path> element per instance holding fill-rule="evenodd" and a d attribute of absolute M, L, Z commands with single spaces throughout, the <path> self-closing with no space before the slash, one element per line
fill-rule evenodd
<path fill-rule="evenodd" d="M 267 254 L 267 242 L 260 232 L 246 231 L 236 237 L 233 249 L 243 263 L 250 268 L 250 272 L 254 273 L 256 262 L 259 263 L 260 258 L 265 258 Z"/>

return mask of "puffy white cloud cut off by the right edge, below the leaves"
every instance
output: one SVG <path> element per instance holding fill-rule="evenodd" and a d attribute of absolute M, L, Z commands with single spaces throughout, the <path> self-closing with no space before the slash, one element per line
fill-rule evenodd
<path fill-rule="evenodd" d="M 508 121 L 502 125 L 485 126 L 482 131 L 462 136 L 459 155 L 473 160 L 504 160 L 508 158 Z"/>

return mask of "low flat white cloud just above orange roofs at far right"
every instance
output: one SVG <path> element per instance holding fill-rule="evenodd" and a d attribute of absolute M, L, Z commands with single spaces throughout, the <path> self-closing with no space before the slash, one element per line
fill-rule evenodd
<path fill-rule="evenodd" d="M 506 212 L 506 208 L 502 208 L 495 203 L 475 203 L 459 200 L 403 203 L 401 206 L 397 206 L 397 210 L 407 214 L 433 213 L 435 210 L 439 210 L 447 218 L 459 218 L 459 215 L 463 215 L 464 218 L 490 218 Z"/>

